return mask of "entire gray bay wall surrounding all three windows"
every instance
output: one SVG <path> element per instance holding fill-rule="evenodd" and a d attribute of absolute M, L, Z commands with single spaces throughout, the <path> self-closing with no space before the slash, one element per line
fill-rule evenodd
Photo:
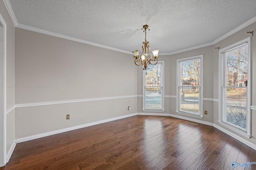
<path fill-rule="evenodd" d="M 203 77 L 204 77 L 204 90 L 203 90 L 203 110 L 208 110 L 208 115 L 203 115 L 203 119 L 197 119 L 194 117 L 188 117 L 185 115 L 182 115 L 184 119 L 192 118 L 198 121 L 205 121 L 208 124 L 214 124 L 217 125 L 227 131 L 230 131 L 234 135 L 237 135 L 238 137 L 243 138 L 246 141 L 249 141 L 250 143 L 256 145 L 256 110 L 252 110 L 252 137 L 248 139 L 247 137 L 244 137 L 236 131 L 232 131 L 230 129 L 227 129 L 226 127 L 220 125 L 218 123 L 219 120 L 219 109 L 218 109 L 218 102 L 209 101 L 209 100 L 217 100 L 218 101 L 218 82 L 219 82 L 219 51 L 218 49 L 215 49 L 215 47 L 220 47 L 220 49 L 225 48 L 229 45 L 232 45 L 238 41 L 241 41 L 243 39 L 246 39 L 247 37 L 251 36 L 251 34 L 248 34 L 247 31 L 253 31 L 255 30 L 256 22 L 248 25 L 244 29 L 241 29 L 240 31 L 230 35 L 229 37 L 226 37 L 222 41 L 219 41 L 218 43 L 214 45 L 210 45 L 207 47 L 202 47 L 190 51 L 186 51 L 183 53 L 178 53 L 174 55 L 160 55 L 159 59 L 165 61 L 165 111 L 164 113 L 170 113 L 173 116 L 181 116 L 176 113 L 176 98 L 168 97 L 168 96 L 176 96 L 176 59 L 182 59 L 187 57 L 193 57 L 197 55 L 203 55 Z M 256 106 L 256 78 L 254 73 L 256 72 L 256 39 L 255 35 L 251 39 L 251 49 L 252 49 L 252 101 L 251 105 Z M 171 47 L 170 47 L 171 48 Z M 142 68 L 138 68 L 138 94 L 142 95 Z M 142 97 L 138 97 L 138 113 L 143 113 L 142 111 Z"/>

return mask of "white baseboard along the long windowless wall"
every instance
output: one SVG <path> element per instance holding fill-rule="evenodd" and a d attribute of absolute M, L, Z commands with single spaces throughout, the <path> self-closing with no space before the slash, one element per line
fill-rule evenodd
<path fill-rule="evenodd" d="M 123 118 L 126 118 L 126 117 L 135 116 L 135 115 L 137 115 L 137 113 L 132 113 L 132 114 L 129 114 L 129 115 L 123 115 L 123 116 L 119 116 L 119 117 L 114 117 L 114 118 L 110 118 L 110 119 L 105 119 L 105 120 L 101 120 L 101 121 L 92 122 L 92 123 L 86 123 L 84 125 L 68 127 L 68 128 L 65 128 L 65 129 L 60 129 L 60 130 L 57 130 L 57 131 L 51 131 L 51 132 L 47 132 L 47 133 L 41 133 L 41 134 L 38 134 L 38 135 L 29 136 L 29 137 L 23 137 L 23 138 L 16 139 L 16 143 L 21 143 L 21 142 L 30 141 L 30 140 L 33 140 L 33 139 L 38 139 L 38 138 L 41 138 L 41 137 L 55 135 L 55 134 L 58 134 L 58 133 L 72 131 L 72 130 L 80 129 L 80 128 L 83 128 L 83 127 L 98 125 L 98 124 L 101 124 L 101 123 L 106 123 L 106 122 L 109 122 L 109 121 L 123 119 Z"/>

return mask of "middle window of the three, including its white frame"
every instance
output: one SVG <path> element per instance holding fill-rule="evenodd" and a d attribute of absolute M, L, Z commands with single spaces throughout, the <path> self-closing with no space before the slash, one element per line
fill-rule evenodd
<path fill-rule="evenodd" d="M 202 118 L 203 56 L 177 60 L 177 113 Z"/>

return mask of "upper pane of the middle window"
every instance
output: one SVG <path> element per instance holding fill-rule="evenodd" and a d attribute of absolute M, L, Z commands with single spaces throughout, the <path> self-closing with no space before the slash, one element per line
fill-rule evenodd
<path fill-rule="evenodd" d="M 200 59 L 180 62 L 180 86 L 200 86 Z"/>

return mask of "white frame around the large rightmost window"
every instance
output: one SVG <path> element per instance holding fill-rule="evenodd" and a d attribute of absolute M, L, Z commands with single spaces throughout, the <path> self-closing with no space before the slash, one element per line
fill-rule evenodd
<path fill-rule="evenodd" d="M 225 123 L 222 121 L 222 78 L 223 78 L 223 65 L 222 65 L 222 53 L 225 51 L 228 51 L 230 49 L 233 49 L 239 45 L 242 45 L 244 43 L 248 43 L 248 96 L 247 96 L 247 121 L 246 121 L 246 131 L 243 131 L 242 129 L 233 126 L 231 124 Z M 250 105 L 251 105 L 251 37 L 248 37 L 246 39 L 243 39 L 242 41 L 239 41 L 237 43 L 234 43 L 228 47 L 225 47 L 223 49 L 219 50 L 219 120 L 218 122 L 220 123 L 220 125 L 223 125 L 224 127 L 232 130 L 232 131 L 236 131 L 237 133 L 239 133 L 240 135 L 243 135 L 244 137 L 252 137 L 252 131 L 251 131 L 251 125 L 252 125 L 252 120 L 251 120 L 251 109 L 250 109 Z"/>

